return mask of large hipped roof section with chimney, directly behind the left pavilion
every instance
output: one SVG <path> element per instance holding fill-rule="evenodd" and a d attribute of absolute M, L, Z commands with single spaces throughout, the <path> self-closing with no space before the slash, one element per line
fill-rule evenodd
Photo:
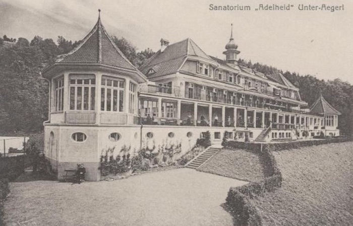
<path fill-rule="evenodd" d="M 206 60 L 211 58 L 190 38 L 168 45 L 163 52 L 157 51 L 153 57 L 140 67 L 143 74 L 150 69 L 155 73 L 147 76 L 161 76 L 178 72 L 187 56 L 201 57 Z"/>

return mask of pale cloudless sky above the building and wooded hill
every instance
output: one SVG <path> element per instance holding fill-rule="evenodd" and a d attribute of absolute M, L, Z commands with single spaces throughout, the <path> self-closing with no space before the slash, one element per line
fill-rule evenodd
<path fill-rule="evenodd" d="M 250 3 L 249 3 L 250 2 Z M 255 11 L 259 4 L 292 4 L 289 11 Z M 211 11 L 209 5 L 250 6 L 251 11 Z M 300 11 L 298 5 L 344 5 L 343 11 Z M 139 50 L 193 39 L 207 54 L 222 52 L 233 24 L 239 58 L 318 79 L 353 84 L 353 1 L 345 0 L 0 0 L 0 36 L 82 39 L 101 20 L 112 36 Z"/>

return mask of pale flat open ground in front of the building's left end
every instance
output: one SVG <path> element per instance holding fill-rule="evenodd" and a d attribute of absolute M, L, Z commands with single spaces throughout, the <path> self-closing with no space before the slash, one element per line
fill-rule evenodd
<path fill-rule="evenodd" d="M 11 183 L 7 225 L 233 225 L 223 203 L 246 182 L 180 168 L 117 181 Z"/>

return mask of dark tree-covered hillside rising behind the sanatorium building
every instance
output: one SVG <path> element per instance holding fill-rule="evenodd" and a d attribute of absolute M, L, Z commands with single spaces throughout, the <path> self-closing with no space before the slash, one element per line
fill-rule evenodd
<path fill-rule="evenodd" d="M 116 45 L 137 67 L 149 59 L 151 49 L 137 51 L 125 38 L 113 37 Z M 0 134 L 13 134 L 16 131 L 38 132 L 48 117 L 48 82 L 41 78 L 40 71 L 54 61 L 56 55 L 72 50 L 78 41 L 72 42 L 59 36 L 52 39 L 35 36 L 31 41 L 25 38 L 0 38 Z M 300 89 L 303 100 L 309 106 L 320 95 L 342 113 L 339 129 L 342 134 L 351 134 L 353 128 L 353 86 L 340 79 L 319 80 L 311 75 L 300 76 L 274 67 L 252 64 L 239 60 L 239 64 L 253 68 L 264 74 L 281 72 Z"/>

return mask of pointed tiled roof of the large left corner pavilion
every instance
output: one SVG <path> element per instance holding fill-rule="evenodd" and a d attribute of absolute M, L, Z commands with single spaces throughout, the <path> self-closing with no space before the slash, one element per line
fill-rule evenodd
<path fill-rule="evenodd" d="M 56 63 L 100 63 L 113 67 L 137 70 L 111 40 L 100 18 L 82 42 Z"/>

